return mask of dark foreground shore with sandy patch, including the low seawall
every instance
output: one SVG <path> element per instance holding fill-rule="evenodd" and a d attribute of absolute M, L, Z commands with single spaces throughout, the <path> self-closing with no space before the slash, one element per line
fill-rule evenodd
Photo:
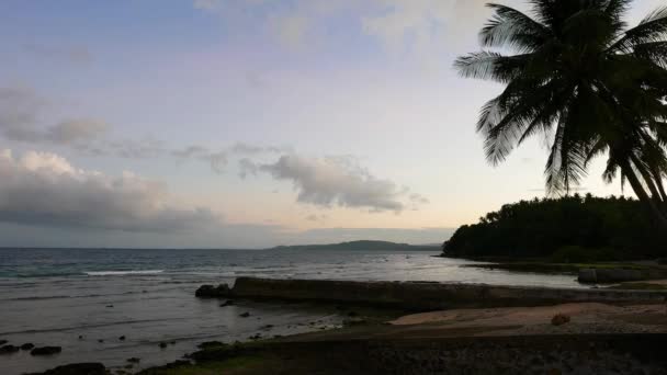
<path fill-rule="evenodd" d="M 665 360 L 655 349 L 667 343 L 665 293 L 590 289 L 573 294 L 563 289 L 498 286 L 489 293 L 488 285 L 467 285 L 463 288 L 465 303 L 471 305 L 466 309 L 453 308 L 451 304 L 445 310 L 439 309 L 439 304 L 429 305 L 430 308 L 396 304 L 397 287 L 398 291 L 407 287 L 412 295 L 409 302 L 414 302 L 426 298 L 425 293 L 442 291 L 450 292 L 442 297 L 451 298 L 451 288 L 460 291 L 461 286 L 240 277 L 233 288 L 213 288 L 219 294 L 202 296 L 200 293 L 200 297 L 234 298 L 235 303 L 260 300 L 275 306 L 308 302 L 330 309 L 331 314 L 346 316 L 343 325 L 242 343 L 210 342 L 168 365 L 140 371 L 137 366 L 127 366 L 126 370 L 114 368 L 113 374 L 136 371 L 142 375 L 217 374 L 222 371 L 265 374 L 269 368 L 290 374 L 427 374 L 436 366 L 451 371 L 471 368 L 473 374 L 507 373 L 518 368 L 568 373 L 568 368 L 586 371 L 606 368 L 603 366 L 628 371 L 644 368 L 659 374 L 665 368 Z M 332 289 L 338 292 L 332 294 Z M 417 289 L 420 292 L 416 293 Z M 394 294 L 387 291 L 394 291 Z M 471 291 L 484 292 L 470 294 Z M 489 308 L 488 298 L 498 296 L 498 291 L 502 291 L 501 298 L 496 300 L 498 305 L 507 306 L 510 300 L 516 307 Z M 348 293 L 351 294 L 344 300 L 343 294 Z M 532 293 L 553 298 L 535 305 Z M 369 299 L 371 295 L 377 296 L 376 299 Z M 483 298 L 478 299 L 481 296 Z M 604 296 L 604 303 L 584 302 L 591 296 Z M 574 302 L 556 303 L 564 297 Z M 475 298 L 476 305 L 473 304 Z M 521 298 L 525 298 L 523 306 Z M 393 303 L 377 304 L 377 300 Z M 387 307 L 397 309 L 384 309 Z M 408 312 L 420 309 L 426 312 Z M 552 321 L 558 314 L 567 316 L 566 323 Z M 620 355 L 619 349 L 628 354 Z M 479 356 L 494 361 L 479 362 Z M 584 362 L 581 356 L 585 356 Z"/>

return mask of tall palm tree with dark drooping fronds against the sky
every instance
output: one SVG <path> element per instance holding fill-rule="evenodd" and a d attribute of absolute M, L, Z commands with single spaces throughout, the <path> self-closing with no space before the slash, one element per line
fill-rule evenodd
<path fill-rule="evenodd" d="M 479 33 L 483 50 L 454 64 L 463 77 L 505 86 L 477 123 L 488 161 L 543 134 L 547 193 L 559 194 L 607 156 L 603 179 L 620 172 L 667 228 L 667 7 L 628 29 L 632 0 L 529 3 L 530 15 L 487 4 L 494 15 Z"/>

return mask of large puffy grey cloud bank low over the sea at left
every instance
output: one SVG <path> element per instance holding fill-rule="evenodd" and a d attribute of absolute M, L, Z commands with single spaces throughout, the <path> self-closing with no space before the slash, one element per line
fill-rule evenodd
<path fill-rule="evenodd" d="M 75 168 L 48 152 L 0 151 L 0 221 L 21 225 L 170 232 L 219 225 L 206 208 L 173 202 L 155 181 Z"/>

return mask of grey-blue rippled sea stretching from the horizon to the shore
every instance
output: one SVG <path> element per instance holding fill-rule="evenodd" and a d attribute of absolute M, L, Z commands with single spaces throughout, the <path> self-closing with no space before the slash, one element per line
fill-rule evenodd
<path fill-rule="evenodd" d="M 461 268 L 468 261 L 434 252 L 291 250 L 0 250 L 0 340 L 60 345 L 52 357 L 0 355 L 0 374 L 72 362 L 140 367 L 192 352 L 199 342 L 233 342 L 340 325 L 317 308 L 194 298 L 201 284 L 237 276 L 439 281 L 584 287 L 573 276 Z M 239 314 L 249 311 L 249 318 Z M 268 328 L 267 326 L 273 326 Z M 125 336 L 125 340 L 120 340 Z M 81 337 L 81 338 L 79 338 Z M 174 342 L 160 349 L 160 342 Z"/>

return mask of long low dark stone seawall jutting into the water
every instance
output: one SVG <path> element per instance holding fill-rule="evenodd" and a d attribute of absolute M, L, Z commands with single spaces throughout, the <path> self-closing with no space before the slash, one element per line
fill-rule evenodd
<path fill-rule="evenodd" d="M 540 306 L 597 302 L 662 304 L 666 291 L 572 289 L 431 282 L 357 282 L 239 277 L 234 287 L 203 285 L 204 298 L 252 298 L 366 304 L 406 310 L 457 307 Z"/>

